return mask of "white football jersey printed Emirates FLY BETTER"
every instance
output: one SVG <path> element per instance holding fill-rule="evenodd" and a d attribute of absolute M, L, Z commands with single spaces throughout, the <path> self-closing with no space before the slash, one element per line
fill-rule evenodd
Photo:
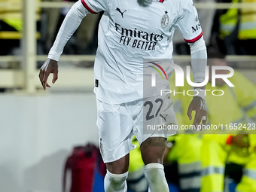
<path fill-rule="evenodd" d="M 104 11 L 94 66 L 94 92 L 102 102 L 142 99 L 144 61 L 152 59 L 160 65 L 158 61 L 172 59 L 175 29 L 187 42 L 203 35 L 192 0 L 153 0 L 148 6 L 139 1 L 81 0 L 93 14 Z M 169 89 L 172 69 L 163 70 L 167 77 L 162 89 Z"/>

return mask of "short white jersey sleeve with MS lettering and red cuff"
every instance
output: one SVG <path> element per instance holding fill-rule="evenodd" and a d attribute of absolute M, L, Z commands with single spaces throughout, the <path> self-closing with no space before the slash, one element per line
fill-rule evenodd
<path fill-rule="evenodd" d="M 191 0 L 184 2 L 186 5 L 182 6 L 181 15 L 175 23 L 175 29 L 181 32 L 187 43 L 194 43 L 203 36 L 203 31 L 193 2 Z"/>

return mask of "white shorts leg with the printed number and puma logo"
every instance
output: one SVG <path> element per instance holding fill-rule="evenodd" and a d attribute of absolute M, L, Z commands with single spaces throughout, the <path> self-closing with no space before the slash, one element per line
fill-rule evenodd
<path fill-rule="evenodd" d="M 175 112 L 172 107 L 172 99 L 169 95 L 154 96 L 145 99 L 142 110 L 137 117 L 133 133 L 142 145 L 148 138 L 175 135 L 178 126 Z"/>

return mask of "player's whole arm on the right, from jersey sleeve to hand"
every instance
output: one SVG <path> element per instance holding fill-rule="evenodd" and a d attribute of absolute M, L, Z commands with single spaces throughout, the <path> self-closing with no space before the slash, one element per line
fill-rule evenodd
<path fill-rule="evenodd" d="M 175 23 L 175 28 L 181 32 L 184 40 L 190 45 L 191 66 L 194 75 L 194 83 L 203 83 L 206 78 L 207 53 L 206 43 L 203 40 L 203 30 L 198 19 L 197 9 L 191 0 L 184 3 L 181 16 Z M 192 119 L 192 111 L 196 111 L 194 125 L 206 123 L 205 86 L 195 87 L 199 93 L 194 96 L 187 109 L 187 116 Z"/>

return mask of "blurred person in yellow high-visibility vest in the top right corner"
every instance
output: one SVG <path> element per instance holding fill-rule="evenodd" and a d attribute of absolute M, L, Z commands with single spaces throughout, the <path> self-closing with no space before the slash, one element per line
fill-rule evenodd
<path fill-rule="evenodd" d="M 227 2 L 227 1 L 225 1 Z M 255 3 L 255 0 L 232 0 L 236 3 Z M 219 18 L 220 38 L 224 40 L 228 54 L 250 54 L 254 55 L 255 50 L 251 49 L 251 41 L 256 40 L 256 9 L 233 8 L 227 10 Z"/>

